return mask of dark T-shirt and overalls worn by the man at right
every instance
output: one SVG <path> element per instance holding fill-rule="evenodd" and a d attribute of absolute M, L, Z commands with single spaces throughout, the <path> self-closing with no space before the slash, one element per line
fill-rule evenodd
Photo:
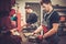
<path fill-rule="evenodd" d="M 50 14 L 44 15 L 44 20 L 48 31 L 53 28 L 53 23 L 59 22 L 59 15 L 56 11 L 52 11 Z M 43 22 L 43 24 L 44 24 Z M 55 33 L 54 35 L 45 38 L 48 44 L 58 44 L 58 35 Z"/>

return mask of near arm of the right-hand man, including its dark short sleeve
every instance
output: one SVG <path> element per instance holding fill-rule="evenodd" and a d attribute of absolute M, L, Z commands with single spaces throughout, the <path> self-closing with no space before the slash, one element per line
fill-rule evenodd
<path fill-rule="evenodd" d="M 52 23 L 53 28 L 43 35 L 44 38 L 55 34 L 59 26 L 59 15 L 56 11 L 53 13 L 51 18 L 52 18 L 51 22 L 53 22 Z"/>

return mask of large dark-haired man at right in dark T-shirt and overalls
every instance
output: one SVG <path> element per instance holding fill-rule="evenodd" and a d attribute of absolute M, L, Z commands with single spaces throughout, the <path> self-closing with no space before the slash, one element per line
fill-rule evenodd
<path fill-rule="evenodd" d="M 41 4 L 43 9 L 46 11 L 43 21 L 46 22 L 47 32 L 44 33 L 44 35 L 41 35 L 40 38 L 45 38 L 48 44 L 58 44 L 57 30 L 59 25 L 59 15 L 56 11 L 54 11 L 51 0 L 42 0 Z M 44 30 L 44 22 L 40 25 L 40 28 L 37 28 L 37 30 L 33 32 L 33 34 Z"/>

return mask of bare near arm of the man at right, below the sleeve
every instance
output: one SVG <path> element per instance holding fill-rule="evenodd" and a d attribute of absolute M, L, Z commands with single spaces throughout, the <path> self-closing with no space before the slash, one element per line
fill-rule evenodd
<path fill-rule="evenodd" d="M 50 30 L 47 33 L 45 33 L 43 35 L 43 37 L 45 38 L 45 37 L 48 37 L 48 36 L 53 35 L 53 34 L 55 34 L 57 32 L 57 30 L 58 30 L 58 25 L 59 25 L 58 23 L 53 23 L 52 30 Z"/>

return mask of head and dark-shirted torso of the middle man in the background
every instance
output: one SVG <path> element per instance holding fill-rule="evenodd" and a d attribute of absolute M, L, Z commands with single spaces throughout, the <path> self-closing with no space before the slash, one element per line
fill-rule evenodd
<path fill-rule="evenodd" d="M 32 24 L 37 21 L 37 15 L 35 13 L 33 13 L 33 10 L 30 6 L 25 7 L 25 12 L 26 12 L 26 14 L 29 14 L 29 16 L 26 19 L 28 24 Z"/>

